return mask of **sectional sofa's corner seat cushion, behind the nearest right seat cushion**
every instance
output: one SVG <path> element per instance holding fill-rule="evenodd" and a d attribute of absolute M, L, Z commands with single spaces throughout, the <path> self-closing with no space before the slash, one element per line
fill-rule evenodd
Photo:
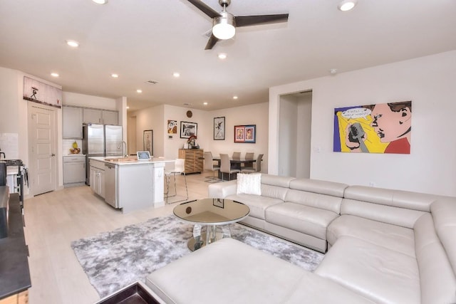
<path fill-rule="evenodd" d="M 341 236 L 352 236 L 415 258 L 413 229 L 344 214 L 331 222 L 326 233 L 331 245 Z"/>

